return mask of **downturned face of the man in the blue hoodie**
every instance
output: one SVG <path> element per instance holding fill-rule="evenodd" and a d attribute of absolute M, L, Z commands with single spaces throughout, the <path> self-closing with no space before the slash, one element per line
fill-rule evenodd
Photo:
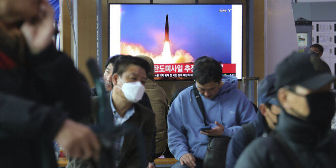
<path fill-rule="evenodd" d="M 219 89 L 223 86 L 223 82 L 214 82 L 211 81 L 204 85 L 201 85 L 196 81 L 197 90 L 203 95 L 205 98 L 212 99 L 218 93 Z"/>

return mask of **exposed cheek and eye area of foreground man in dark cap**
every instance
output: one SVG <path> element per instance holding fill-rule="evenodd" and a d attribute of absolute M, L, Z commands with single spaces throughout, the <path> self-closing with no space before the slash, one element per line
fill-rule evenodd
<path fill-rule="evenodd" d="M 293 90 L 280 88 L 278 99 L 286 112 L 292 116 L 306 120 L 310 114 L 310 108 L 306 95 L 330 90 L 330 84 L 317 90 L 310 90 L 302 86 L 295 86 Z"/>

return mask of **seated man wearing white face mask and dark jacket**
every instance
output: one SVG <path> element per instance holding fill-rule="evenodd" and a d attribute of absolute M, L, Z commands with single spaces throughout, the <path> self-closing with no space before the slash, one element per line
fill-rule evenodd
<path fill-rule="evenodd" d="M 154 167 L 150 163 L 152 158 L 149 151 L 155 132 L 155 115 L 153 111 L 137 103 L 145 93 L 149 71 L 150 65 L 143 59 L 130 55 L 118 58 L 113 69 L 110 104 L 116 126 L 133 125 L 142 133 L 149 167 Z M 118 167 L 139 167 L 139 155 L 143 153 L 136 150 L 136 142 L 134 134 L 126 134 L 115 143 Z"/>

